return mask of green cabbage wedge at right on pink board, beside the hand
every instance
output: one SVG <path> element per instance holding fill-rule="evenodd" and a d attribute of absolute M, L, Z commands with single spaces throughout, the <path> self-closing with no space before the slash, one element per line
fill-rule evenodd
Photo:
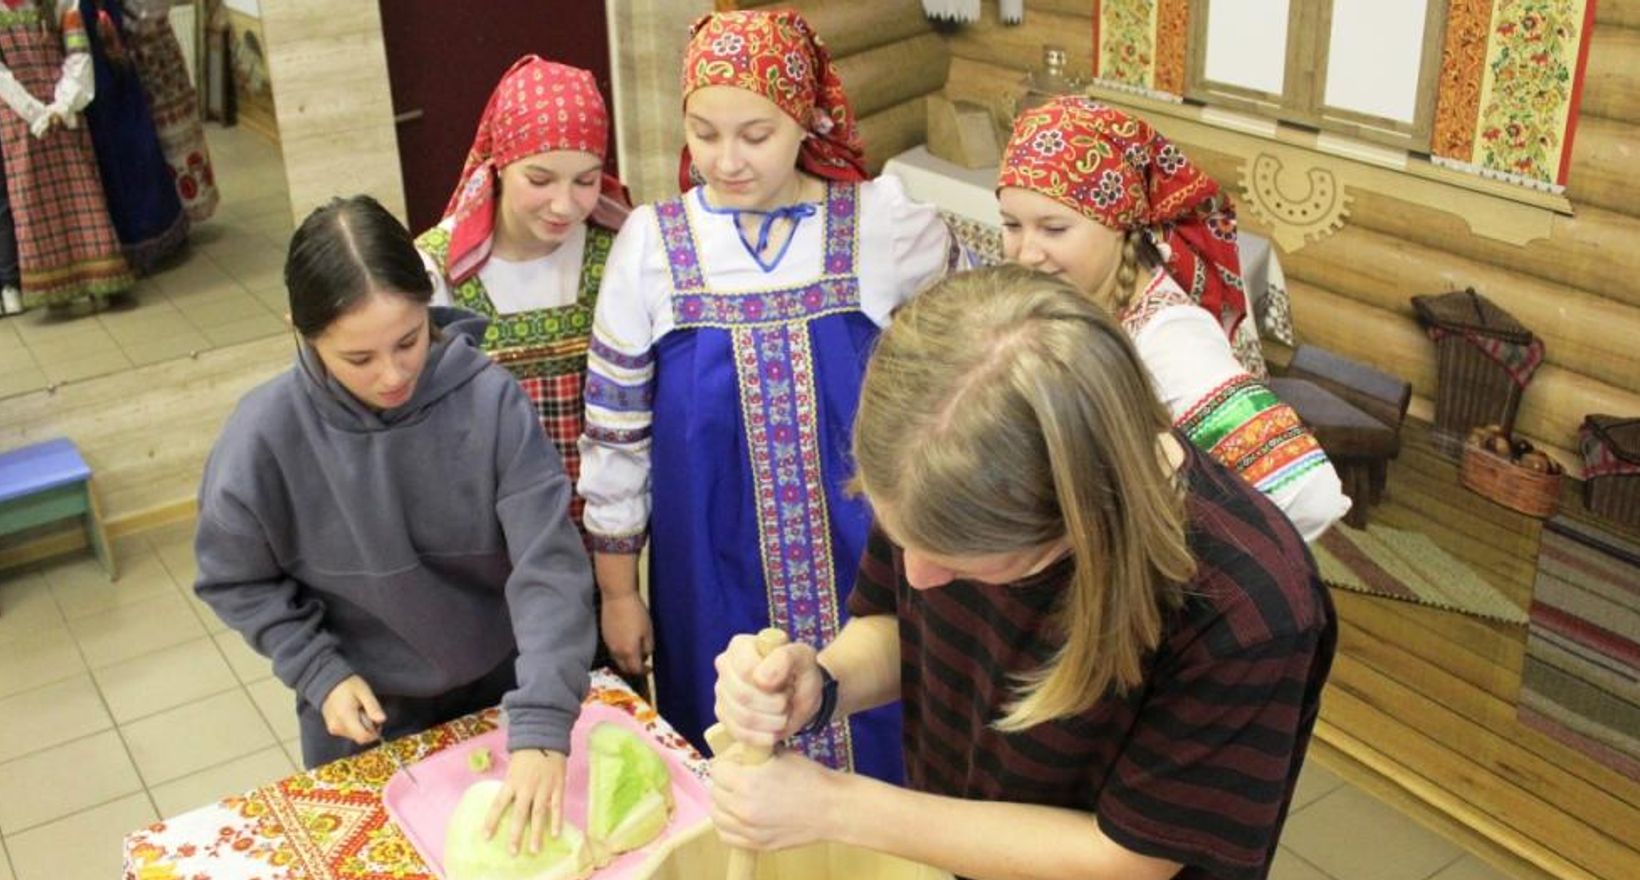
<path fill-rule="evenodd" d="M 587 770 L 587 836 L 600 864 L 661 836 L 672 814 L 672 775 L 643 737 L 620 724 L 595 724 Z"/>

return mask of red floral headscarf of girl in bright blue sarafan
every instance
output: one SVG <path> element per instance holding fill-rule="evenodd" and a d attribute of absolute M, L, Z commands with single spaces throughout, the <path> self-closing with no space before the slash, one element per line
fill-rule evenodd
<path fill-rule="evenodd" d="M 702 16 L 684 52 L 684 100 L 695 88 L 733 85 L 776 103 L 809 131 L 797 164 L 828 180 L 866 179 L 854 111 L 820 36 L 792 10 L 741 10 Z M 677 185 L 689 188 L 689 147 Z"/>

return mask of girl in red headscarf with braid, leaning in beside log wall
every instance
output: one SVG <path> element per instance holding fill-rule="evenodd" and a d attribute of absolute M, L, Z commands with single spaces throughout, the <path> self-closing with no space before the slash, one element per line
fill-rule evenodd
<path fill-rule="evenodd" d="M 1297 413 L 1232 351 L 1246 313 L 1235 211 L 1150 123 L 1084 97 L 1020 115 L 997 180 L 1002 251 L 1114 311 L 1176 424 L 1305 541 L 1350 510 Z"/>

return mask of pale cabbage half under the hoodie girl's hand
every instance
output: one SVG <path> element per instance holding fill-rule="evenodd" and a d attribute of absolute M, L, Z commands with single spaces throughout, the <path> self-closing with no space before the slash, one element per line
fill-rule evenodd
<path fill-rule="evenodd" d="M 507 819 L 512 816 L 508 805 L 495 837 L 485 841 L 484 818 L 500 790 L 500 780 L 490 778 L 462 792 L 444 829 L 446 880 L 579 880 L 592 873 L 587 841 L 569 823 L 564 823 L 558 837 L 541 841 L 541 852 L 530 852 L 528 846 L 522 846 L 518 855 L 512 855 L 507 852 Z"/>

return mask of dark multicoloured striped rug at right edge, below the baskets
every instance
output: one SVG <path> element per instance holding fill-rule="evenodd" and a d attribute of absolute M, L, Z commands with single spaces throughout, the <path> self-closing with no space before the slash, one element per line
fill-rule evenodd
<path fill-rule="evenodd" d="M 1520 721 L 1640 780 L 1640 542 L 1543 523 Z"/>

